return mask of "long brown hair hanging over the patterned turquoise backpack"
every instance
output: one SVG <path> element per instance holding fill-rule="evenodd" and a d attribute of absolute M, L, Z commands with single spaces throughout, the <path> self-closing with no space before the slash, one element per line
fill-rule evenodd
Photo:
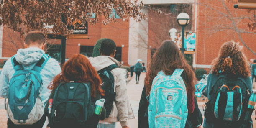
<path fill-rule="evenodd" d="M 164 74 L 172 75 L 175 69 L 184 69 L 184 72 L 188 77 L 188 82 L 184 81 L 188 95 L 194 97 L 196 81 L 195 73 L 187 63 L 184 55 L 179 51 L 178 46 L 173 41 L 169 40 L 164 41 L 152 57 L 145 78 L 146 94 L 149 94 L 153 79 L 159 71 L 162 70 Z"/>

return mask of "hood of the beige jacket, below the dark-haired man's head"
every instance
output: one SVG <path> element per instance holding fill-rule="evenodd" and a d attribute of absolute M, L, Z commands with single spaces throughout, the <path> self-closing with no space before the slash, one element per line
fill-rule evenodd
<path fill-rule="evenodd" d="M 97 56 L 97 57 L 89 57 L 89 61 L 92 66 L 96 69 L 96 71 L 100 71 L 101 69 L 108 67 L 112 64 L 116 64 L 118 67 L 121 67 L 122 64 L 118 60 L 110 56 Z"/>

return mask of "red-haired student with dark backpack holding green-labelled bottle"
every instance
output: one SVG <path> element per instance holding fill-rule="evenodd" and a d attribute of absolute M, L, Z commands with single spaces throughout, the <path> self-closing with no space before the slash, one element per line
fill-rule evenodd
<path fill-rule="evenodd" d="M 62 67 L 48 88 L 51 91 L 44 109 L 51 128 L 95 128 L 98 118 L 106 115 L 103 107 L 100 117 L 94 115 L 95 102 L 104 95 L 101 79 L 86 56 L 73 55 Z M 96 122 L 95 122 L 96 120 Z"/>

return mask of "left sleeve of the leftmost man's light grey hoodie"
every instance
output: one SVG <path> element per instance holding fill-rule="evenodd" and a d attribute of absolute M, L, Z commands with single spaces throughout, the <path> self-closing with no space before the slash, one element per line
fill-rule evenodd
<path fill-rule="evenodd" d="M 8 83 L 9 83 L 9 77 L 8 72 L 10 69 L 8 69 L 8 65 L 11 65 L 11 60 L 8 59 L 8 61 L 5 63 L 1 74 L 0 74 L 0 96 L 5 98 L 8 92 Z"/>

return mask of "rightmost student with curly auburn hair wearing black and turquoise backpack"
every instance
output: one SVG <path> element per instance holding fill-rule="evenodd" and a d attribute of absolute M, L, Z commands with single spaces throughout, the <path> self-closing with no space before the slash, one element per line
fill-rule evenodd
<path fill-rule="evenodd" d="M 207 79 L 209 101 L 203 127 L 252 128 L 251 116 L 248 120 L 245 116 L 251 91 L 249 65 L 241 46 L 233 41 L 224 43 Z"/>

